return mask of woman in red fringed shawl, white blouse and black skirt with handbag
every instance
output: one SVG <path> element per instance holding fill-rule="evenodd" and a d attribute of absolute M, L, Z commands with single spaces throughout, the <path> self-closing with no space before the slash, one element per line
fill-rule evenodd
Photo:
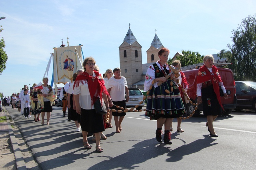
<path fill-rule="evenodd" d="M 105 105 L 109 107 L 111 101 L 105 88 L 103 78 L 98 71 L 94 70 L 95 60 L 93 57 L 85 58 L 83 66 L 85 71 L 78 75 L 74 82 L 74 99 L 76 112 L 81 117 L 81 128 L 83 134 L 83 145 L 85 149 L 91 149 L 87 140 L 88 132 L 95 133 L 96 151 L 103 152 L 100 146 L 101 132 L 105 131 L 103 116 L 96 114 L 94 103 L 98 98 L 104 99 Z M 110 102 L 112 106 L 112 102 Z"/>

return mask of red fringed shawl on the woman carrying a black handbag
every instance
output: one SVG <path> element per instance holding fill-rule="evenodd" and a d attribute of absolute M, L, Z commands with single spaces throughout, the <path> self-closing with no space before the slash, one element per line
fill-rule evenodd
<path fill-rule="evenodd" d="M 82 74 L 79 74 L 74 82 L 73 87 L 78 87 L 80 83 L 84 84 L 88 83 L 88 88 L 91 96 L 91 105 L 95 103 L 97 100 L 97 97 L 100 96 L 100 100 L 102 99 L 102 92 L 104 94 L 108 94 L 108 91 L 106 90 L 104 80 L 101 76 L 101 74 L 98 71 L 94 70 L 94 73 L 96 76 L 90 76 L 86 71 L 84 71 Z"/>

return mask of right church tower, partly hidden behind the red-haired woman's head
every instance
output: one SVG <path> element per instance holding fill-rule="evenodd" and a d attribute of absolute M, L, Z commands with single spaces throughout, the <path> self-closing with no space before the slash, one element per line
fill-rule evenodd
<path fill-rule="evenodd" d="M 155 30 L 156 31 L 156 30 Z M 150 48 L 146 51 L 147 52 L 147 63 L 157 62 L 158 60 L 158 51 L 164 48 L 160 39 L 155 34 L 155 37 L 151 43 Z"/>

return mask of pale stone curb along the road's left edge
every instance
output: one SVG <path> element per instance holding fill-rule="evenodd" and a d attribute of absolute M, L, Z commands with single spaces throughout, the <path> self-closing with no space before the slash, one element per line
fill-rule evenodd
<path fill-rule="evenodd" d="M 6 108 L 4 108 L 4 109 L 5 109 L 4 112 L 8 113 Z M 27 167 L 25 165 L 25 161 L 24 161 L 24 158 L 22 156 L 22 153 L 21 153 L 21 151 L 19 149 L 17 140 L 16 140 L 16 138 L 14 136 L 9 116 L 10 116 L 9 113 L 8 113 L 8 115 L 6 114 L 6 120 L 7 120 L 7 124 L 8 124 L 8 130 L 9 130 L 9 136 L 10 136 L 10 140 L 11 140 L 11 144 L 12 144 L 12 148 L 13 148 L 13 153 L 14 153 L 14 156 L 15 156 L 17 170 L 26 170 Z"/>

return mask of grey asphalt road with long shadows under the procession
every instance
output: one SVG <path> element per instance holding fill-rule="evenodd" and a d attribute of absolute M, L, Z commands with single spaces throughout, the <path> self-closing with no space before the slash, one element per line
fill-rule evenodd
<path fill-rule="evenodd" d="M 183 120 L 184 133 L 173 132 L 172 145 L 155 139 L 156 121 L 144 112 L 127 113 L 122 132 L 103 132 L 102 153 L 82 145 L 75 124 L 54 106 L 50 125 L 25 120 L 6 107 L 42 169 L 255 169 L 256 113 L 232 112 L 214 122 L 218 138 L 209 137 L 202 115 Z M 114 120 L 113 120 L 114 121 Z M 175 130 L 176 120 L 173 128 Z M 113 123 L 114 124 L 114 123 Z"/>

